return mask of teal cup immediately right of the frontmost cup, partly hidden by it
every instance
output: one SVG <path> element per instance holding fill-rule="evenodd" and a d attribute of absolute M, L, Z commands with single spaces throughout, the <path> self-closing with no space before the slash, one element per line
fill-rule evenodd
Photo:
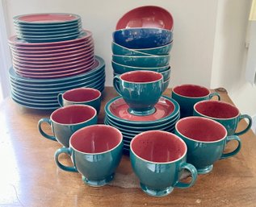
<path fill-rule="evenodd" d="M 232 157 L 241 149 L 241 140 L 235 135 L 227 136 L 225 127 L 210 118 L 182 118 L 175 125 L 175 134 L 187 144 L 187 162 L 199 174 L 211 172 L 217 160 Z M 238 143 L 237 148 L 225 154 L 226 142 L 232 140 Z"/>

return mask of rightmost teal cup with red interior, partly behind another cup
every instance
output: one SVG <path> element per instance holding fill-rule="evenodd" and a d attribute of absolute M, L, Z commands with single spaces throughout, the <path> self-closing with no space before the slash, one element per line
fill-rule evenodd
<path fill-rule="evenodd" d="M 224 101 L 199 101 L 194 106 L 194 115 L 221 123 L 228 131 L 228 135 L 243 135 L 252 125 L 252 118 L 249 115 L 240 114 L 237 107 Z M 248 120 L 246 128 L 236 132 L 238 123 L 244 118 Z"/>

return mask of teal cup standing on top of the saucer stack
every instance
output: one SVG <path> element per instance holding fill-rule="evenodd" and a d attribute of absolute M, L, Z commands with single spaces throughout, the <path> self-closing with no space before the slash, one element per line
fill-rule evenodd
<path fill-rule="evenodd" d="M 159 72 L 132 71 L 114 77 L 113 85 L 129 106 L 129 112 L 149 115 L 162 96 L 163 77 Z"/>

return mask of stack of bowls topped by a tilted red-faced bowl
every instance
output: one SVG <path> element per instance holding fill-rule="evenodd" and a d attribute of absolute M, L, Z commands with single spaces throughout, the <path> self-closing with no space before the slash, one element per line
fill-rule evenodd
<path fill-rule="evenodd" d="M 167 88 L 173 23 L 172 15 L 158 6 L 141 6 L 124 14 L 111 43 L 114 76 L 135 70 L 161 72 Z"/>

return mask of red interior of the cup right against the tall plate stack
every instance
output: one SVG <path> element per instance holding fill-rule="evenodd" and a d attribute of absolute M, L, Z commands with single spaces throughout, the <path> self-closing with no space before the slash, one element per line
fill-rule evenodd
<path fill-rule="evenodd" d="M 92 101 L 100 97 L 101 93 L 96 89 L 79 88 L 71 89 L 63 94 L 63 98 L 67 101 L 86 102 Z"/>

